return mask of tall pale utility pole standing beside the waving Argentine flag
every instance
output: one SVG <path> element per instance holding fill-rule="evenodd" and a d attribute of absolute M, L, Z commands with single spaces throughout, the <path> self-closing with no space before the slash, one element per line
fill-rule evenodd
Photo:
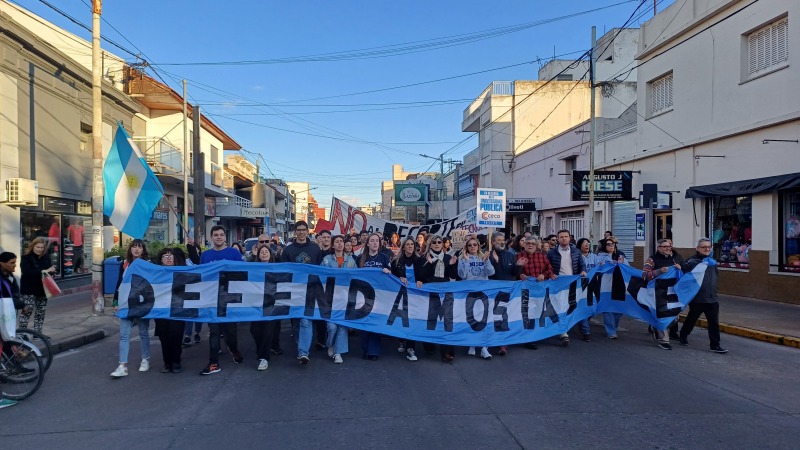
<path fill-rule="evenodd" d="M 103 298 L 103 61 L 100 14 L 103 0 L 92 0 L 92 315 L 102 316 Z"/>

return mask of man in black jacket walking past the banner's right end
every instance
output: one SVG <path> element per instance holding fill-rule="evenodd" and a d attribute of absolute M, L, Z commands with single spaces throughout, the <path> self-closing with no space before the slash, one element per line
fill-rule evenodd
<path fill-rule="evenodd" d="M 711 240 L 701 238 L 697 241 L 697 253 L 689 258 L 683 265 L 683 273 L 691 272 L 698 264 L 711 255 Z M 689 334 L 694 328 L 700 314 L 705 314 L 708 322 L 708 339 L 711 341 L 711 351 L 714 353 L 728 353 L 719 346 L 719 303 L 717 302 L 717 280 L 719 273 L 717 266 L 709 265 L 703 276 L 703 284 L 692 302 L 689 303 L 689 314 L 683 322 L 680 332 L 681 345 L 689 345 Z"/>

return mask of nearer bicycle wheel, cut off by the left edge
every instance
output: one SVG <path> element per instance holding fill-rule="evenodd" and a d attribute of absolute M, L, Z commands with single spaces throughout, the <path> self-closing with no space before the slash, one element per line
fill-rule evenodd
<path fill-rule="evenodd" d="M 0 390 L 11 400 L 30 397 L 42 385 L 44 365 L 33 344 L 22 340 L 3 342 L 0 355 Z"/>

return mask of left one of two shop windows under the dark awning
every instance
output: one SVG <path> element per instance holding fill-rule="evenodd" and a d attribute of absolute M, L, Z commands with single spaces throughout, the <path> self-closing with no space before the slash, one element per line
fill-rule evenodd
<path fill-rule="evenodd" d="M 710 228 L 714 259 L 720 267 L 750 268 L 753 236 L 751 196 L 717 197 L 711 200 Z"/>

